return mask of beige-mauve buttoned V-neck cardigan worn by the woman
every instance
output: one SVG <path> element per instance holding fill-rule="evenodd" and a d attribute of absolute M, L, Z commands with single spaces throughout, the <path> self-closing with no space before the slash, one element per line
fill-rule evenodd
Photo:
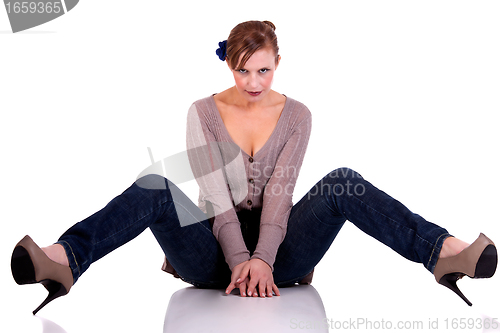
<path fill-rule="evenodd" d="M 198 206 L 211 217 L 213 234 L 232 270 L 259 258 L 273 269 L 292 209 L 292 193 L 311 133 L 311 113 L 287 97 L 271 136 L 254 156 L 231 139 L 212 96 L 198 100 L 188 111 L 187 148 L 200 186 Z M 197 150 L 197 147 L 211 147 Z M 236 213 L 262 209 L 259 242 L 250 256 Z M 165 259 L 163 269 L 178 277 Z M 312 278 L 312 272 L 311 272 Z M 309 281 L 310 282 L 310 281 Z"/>

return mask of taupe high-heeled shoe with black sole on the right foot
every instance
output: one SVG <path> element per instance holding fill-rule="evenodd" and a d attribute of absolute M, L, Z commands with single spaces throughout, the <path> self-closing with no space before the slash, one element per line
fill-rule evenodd
<path fill-rule="evenodd" d="M 440 258 L 434 269 L 434 277 L 439 284 L 453 290 L 465 303 L 472 306 L 467 297 L 457 287 L 457 281 L 465 275 L 474 278 L 490 278 L 495 274 L 498 257 L 495 244 L 484 234 L 459 254 Z"/>

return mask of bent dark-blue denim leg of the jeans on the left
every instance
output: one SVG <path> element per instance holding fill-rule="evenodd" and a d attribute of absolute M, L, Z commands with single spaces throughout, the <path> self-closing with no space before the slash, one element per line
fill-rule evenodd
<path fill-rule="evenodd" d="M 93 262 L 148 227 L 184 281 L 218 287 L 230 280 L 206 216 L 174 184 L 157 175 L 136 181 L 103 209 L 72 226 L 57 243 L 66 250 L 76 282 Z"/>

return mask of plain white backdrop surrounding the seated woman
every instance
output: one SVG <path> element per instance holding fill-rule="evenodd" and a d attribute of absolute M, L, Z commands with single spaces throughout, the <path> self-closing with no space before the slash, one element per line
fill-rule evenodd
<path fill-rule="evenodd" d="M 31 311 L 45 289 L 17 286 L 10 255 L 25 234 L 48 245 L 102 208 L 150 164 L 147 147 L 156 159 L 182 151 L 190 104 L 233 84 L 217 43 L 250 19 L 277 26 L 274 89 L 313 114 L 295 202 L 348 166 L 457 237 L 500 242 L 499 14 L 498 1 L 81 0 L 12 34 L 0 9 L 1 331 L 162 331 L 170 296 L 188 285 L 160 270 L 149 231 L 40 318 Z M 347 223 L 313 285 L 334 321 L 421 321 L 431 332 L 500 317 L 499 279 L 460 281 L 469 308 Z"/>

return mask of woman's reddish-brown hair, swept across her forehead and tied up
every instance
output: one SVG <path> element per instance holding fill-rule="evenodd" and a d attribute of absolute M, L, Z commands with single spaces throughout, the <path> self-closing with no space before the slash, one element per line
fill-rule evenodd
<path fill-rule="evenodd" d="M 269 21 L 247 21 L 238 24 L 227 38 L 227 61 L 231 68 L 240 70 L 250 57 L 260 49 L 270 48 L 278 62 L 278 38 L 276 27 Z M 241 62 L 238 63 L 241 55 Z"/>

